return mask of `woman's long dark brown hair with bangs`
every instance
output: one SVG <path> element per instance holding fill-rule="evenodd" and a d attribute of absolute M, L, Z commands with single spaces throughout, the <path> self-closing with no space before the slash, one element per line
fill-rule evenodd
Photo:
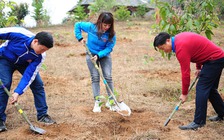
<path fill-rule="evenodd" d="M 108 40 L 111 41 L 112 38 L 114 37 L 115 35 L 115 31 L 114 31 L 114 17 L 113 17 L 113 14 L 110 13 L 110 12 L 102 12 L 98 19 L 97 19 L 97 22 L 95 23 L 96 26 L 97 26 L 97 29 L 98 29 L 98 37 L 100 38 L 103 34 L 103 30 L 102 30 L 102 23 L 105 23 L 105 24 L 110 24 L 110 28 L 108 29 L 108 32 L 109 32 L 109 38 Z"/>

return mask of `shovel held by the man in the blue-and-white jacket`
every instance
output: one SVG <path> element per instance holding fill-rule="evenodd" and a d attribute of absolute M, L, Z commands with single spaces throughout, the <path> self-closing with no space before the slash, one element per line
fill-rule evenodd
<path fill-rule="evenodd" d="M 8 91 L 8 89 L 4 86 L 4 84 L 2 83 L 2 80 L 0 79 L 0 85 L 4 88 L 5 92 L 7 93 L 7 95 L 9 97 L 12 97 L 12 94 Z M 38 128 L 34 125 L 32 125 L 32 123 L 30 122 L 30 120 L 28 119 L 27 115 L 25 114 L 25 112 L 22 110 L 21 106 L 15 102 L 14 105 L 16 106 L 18 112 L 23 116 L 23 118 L 26 120 L 26 122 L 30 125 L 30 130 L 35 132 L 35 133 L 38 133 L 38 134 L 45 134 L 46 131 L 41 129 L 41 128 Z"/>

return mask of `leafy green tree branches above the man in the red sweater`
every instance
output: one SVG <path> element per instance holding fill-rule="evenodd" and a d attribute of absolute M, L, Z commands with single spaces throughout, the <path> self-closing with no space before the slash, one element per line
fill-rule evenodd
<path fill-rule="evenodd" d="M 176 35 L 180 32 L 189 31 L 198 34 L 205 34 L 208 39 L 212 38 L 213 28 L 219 25 L 219 19 L 214 0 L 177 0 L 168 2 L 155 1 L 156 12 L 159 23 L 154 24 L 153 28 L 169 34 Z M 167 55 L 168 58 L 171 54 Z"/>

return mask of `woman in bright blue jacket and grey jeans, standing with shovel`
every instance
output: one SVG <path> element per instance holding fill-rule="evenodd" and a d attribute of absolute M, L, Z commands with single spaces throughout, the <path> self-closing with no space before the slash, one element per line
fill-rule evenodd
<path fill-rule="evenodd" d="M 86 55 L 86 62 L 92 78 L 92 90 L 95 99 L 93 112 L 101 112 L 101 107 L 99 106 L 100 100 L 97 99 L 97 96 L 100 95 L 100 76 L 97 69 L 92 64 L 91 59 L 101 66 L 103 76 L 113 92 L 113 81 L 111 75 L 112 60 L 110 55 L 116 43 L 113 15 L 109 12 L 102 12 L 96 23 L 77 22 L 74 30 L 75 36 L 79 42 L 85 43 L 86 41 L 83 39 L 82 31 L 88 34 L 87 47 L 93 56 L 90 58 L 90 56 Z M 107 93 L 108 96 L 110 96 L 108 89 Z M 106 106 L 115 111 L 115 106 L 110 106 L 108 103 Z"/>

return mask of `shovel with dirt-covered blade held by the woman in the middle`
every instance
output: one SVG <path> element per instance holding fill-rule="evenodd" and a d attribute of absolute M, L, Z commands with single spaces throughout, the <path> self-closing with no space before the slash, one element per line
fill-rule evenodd
<path fill-rule="evenodd" d="M 88 55 L 90 56 L 90 58 L 93 57 L 92 54 L 90 53 L 89 48 L 86 46 L 86 42 L 84 42 L 84 46 L 85 46 L 86 51 L 87 51 Z M 100 77 L 101 77 L 102 80 L 103 80 L 103 83 L 105 84 L 105 86 L 107 87 L 107 89 L 108 89 L 109 92 L 110 92 L 110 95 L 113 97 L 113 99 L 114 99 L 114 103 L 115 103 L 115 104 L 117 105 L 117 107 L 118 107 L 118 109 L 116 110 L 117 113 L 119 113 L 119 114 L 122 115 L 122 116 L 130 116 L 130 115 L 131 115 L 131 109 L 130 109 L 130 108 L 129 108 L 123 101 L 122 101 L 122 102 L 118 102 L 118 101 L 117 101 L 117 99 L 116 99 L 114 93 L 112 92 L 112 90 L 110 89 L 110 87 L 109 87 L 107 81 L 106 81 L 105 78 L 103 77 L 103 74 L 102 74 L 102 72 L 100 71 L 99 66 L 96 64 L 96 61 L 94 61 L 94 60 L 92 60 L 92 59 L 91 59 L 91 61 L 92 61 L 93 65 L 95 66 L 95 68 L 97 69 L 97 71 L 99 72 Z"/>

